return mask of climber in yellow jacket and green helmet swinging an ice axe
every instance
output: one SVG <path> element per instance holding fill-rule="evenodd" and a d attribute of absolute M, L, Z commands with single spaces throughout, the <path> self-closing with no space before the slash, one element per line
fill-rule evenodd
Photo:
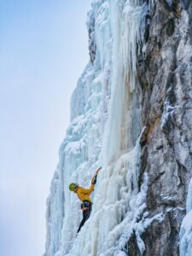
<path fill-rule="evenodd" d="M 93 192 L 95 184 L 96 184 L 96 177 L 98 172 L 102 169 L 102 167 L 100 167 L 99 169 L 97 169 L 96 171 L 96 175 L 91 179 L 91 185 L 90 185 L 90 189 L 84 189 L 79 187 L 78 184 L 76 183 L 71 183 L 69 184 L 69 189 L 71 191 L 73 191 L 74 193 L 76 193 L 80 199 L 80 201 L 82 201 L 81 204 L 81 210 L 83 212 L 83 219 L 79 225 L 79 229 L 78 229 L 78 233 L 81 230 L 81 228 L 83 227 L 85 221 L 90 218 L 90 212 L 92 210 L 92 201 L 90 200 L 90 194 Z"/>

